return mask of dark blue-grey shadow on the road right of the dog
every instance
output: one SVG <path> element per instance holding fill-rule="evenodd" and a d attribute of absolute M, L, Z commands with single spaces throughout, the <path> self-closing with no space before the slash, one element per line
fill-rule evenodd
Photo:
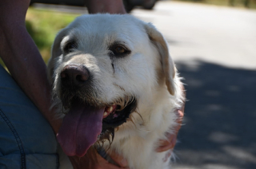
<path fill-rule="evenodd" d="M 185 77 L 186 118 L 177 165 L 256 168 L 256 70 L 176 63 Z"/>

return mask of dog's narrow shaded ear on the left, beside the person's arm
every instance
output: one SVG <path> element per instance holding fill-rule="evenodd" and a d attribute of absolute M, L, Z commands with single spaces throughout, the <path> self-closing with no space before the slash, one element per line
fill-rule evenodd
<path fill-rule="evenodd" d="M 50 83 L 52 83 L 53 81 L 52 76 L 54 73 L 54 64 L 55 64 L 56 57 L 59 57 L 62 55 L 62 49 L 60 45 L 63 37 L 65 37 L 66 34 L 67 34 L 67 29 L 62 29 L 55 37 L 54 45 L 52 45 L 52 48 L 51 48 L 51 57 L 47 64 L 47 75 Z"/>

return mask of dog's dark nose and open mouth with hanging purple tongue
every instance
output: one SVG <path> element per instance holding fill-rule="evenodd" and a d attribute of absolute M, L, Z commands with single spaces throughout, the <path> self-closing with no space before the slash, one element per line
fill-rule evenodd
<path fill-rule="evenodd" d="M 82 157 L 97 140 L 114 139 L 114 128 L 126 123 L 137 108 L 134 96 L 113 103 L 95 100 L 92 77 L 83 65 L 66 65 L 60 73 L 63 118 L 57 139 L 66 155 Z M 91 101 L 94 100 L 94 101 Z"/>

